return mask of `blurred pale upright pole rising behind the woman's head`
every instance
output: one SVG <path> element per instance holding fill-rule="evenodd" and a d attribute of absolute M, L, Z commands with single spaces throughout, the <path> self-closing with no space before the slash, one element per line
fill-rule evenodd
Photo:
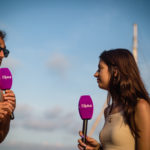
<path fill-rule="evenodd" d="M 133 25 L 133 56 L 136 63 L 138 63 L 138 53 L 137 53 L 137 24 Z"/>

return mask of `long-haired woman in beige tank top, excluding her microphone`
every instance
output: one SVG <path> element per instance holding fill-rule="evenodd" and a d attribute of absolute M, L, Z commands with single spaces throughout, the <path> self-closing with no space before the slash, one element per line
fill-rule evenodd
<path fill-rule="evenodd" d="M 150 98 L 133 55 L 126 49 L 104 51 L 94 74 L 110 99 L 104 110 L 100 143 L 86 137 L 80 150 L 150 150 Z M 80 136 L 83 134 L 80 131 Z"/>

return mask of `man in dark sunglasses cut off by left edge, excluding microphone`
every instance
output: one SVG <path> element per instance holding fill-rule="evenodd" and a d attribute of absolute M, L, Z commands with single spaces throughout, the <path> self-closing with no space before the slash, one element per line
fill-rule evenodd
<path fill-rule="evenodd" d="M 0 65 L 4 57 L 7 57 L 9 51 L 5 45 L 5 33 L 0 30 Z M 15 94 L 12 90 L 6 90 L 5 93 L 0 90 L 0 143 L 3 142 L 8 134 L 10 120 L 16 106 Z"/>

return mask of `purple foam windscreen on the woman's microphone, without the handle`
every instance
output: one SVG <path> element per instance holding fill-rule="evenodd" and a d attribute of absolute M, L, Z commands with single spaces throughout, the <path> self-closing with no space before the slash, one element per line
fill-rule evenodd
<path fill-rule="evenodd" d="M 84 119 L 91 119 L 93 116 L 93 102 L 89 95 L 83 95 L 79 100 L 79 114 Z"/>

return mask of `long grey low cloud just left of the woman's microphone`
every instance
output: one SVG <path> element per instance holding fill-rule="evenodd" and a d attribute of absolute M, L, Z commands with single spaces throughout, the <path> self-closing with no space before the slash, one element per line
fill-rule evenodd
<path fill-rule="evenodd" d="M 62 130 L 69 134 L 77 133 L 79 130 L 79 122 L 77 121 L 75 114 L 73 112 L 68 112 L 67 114 L 65 114 L 65 112 L 63 113 L 64 114 L 59 115 L 59 117 L 56 118 L 53 116 L 51 118 L 48 116 L 46 116 L 46 118 L 30 118 L 29 120 L 22 122 L 22 127 L 25 129 L 37 130 L 38 132 Z"/>

